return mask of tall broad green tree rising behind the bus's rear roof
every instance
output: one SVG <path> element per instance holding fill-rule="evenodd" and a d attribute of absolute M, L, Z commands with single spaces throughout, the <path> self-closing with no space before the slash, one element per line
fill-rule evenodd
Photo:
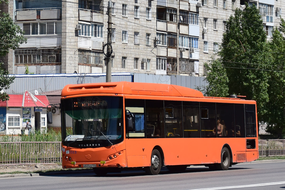
<path fill-rule="evenodd" d="M 261 16 L 255 6 L 247 4 L 244 11 L 236 9 L 234 15 L 229 17 L 217 55 L 217 60 L 207 64 L 208 76 L 223 75 L 222 86 L 227 85 L 227 94 L 245 95 L 247 99 L 256 100 L 258 116 L 262 119 L 268 102 L 267 67 L 271 54 L 266 45 Z M 220 63 L 215 69 L 217 62 Z M 211 88 L 207 94 L 221 88 L 221 80 L 210 78 L 208 82 Z"/>

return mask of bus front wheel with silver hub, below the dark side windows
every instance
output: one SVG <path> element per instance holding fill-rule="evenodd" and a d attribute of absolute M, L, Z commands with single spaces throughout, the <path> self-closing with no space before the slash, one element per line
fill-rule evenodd
<path fill-rule="evenodd" d="M 148 175 L 157 175 L 161 169 L 161 156 L 158 150 L 154 149 L 151 152 L 150 166 L 145 167 L 145 172 Z"/>

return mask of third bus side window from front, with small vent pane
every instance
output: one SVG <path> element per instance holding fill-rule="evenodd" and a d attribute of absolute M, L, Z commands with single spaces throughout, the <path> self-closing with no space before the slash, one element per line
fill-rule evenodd
<path fill-rule="evenodd" d="M 166 138 L 182 138 L 182 102 L 164 101 L 164 105 Z"/>

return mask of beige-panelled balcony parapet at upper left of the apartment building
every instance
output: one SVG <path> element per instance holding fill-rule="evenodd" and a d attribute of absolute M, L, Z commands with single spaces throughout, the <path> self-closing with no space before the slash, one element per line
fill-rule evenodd
<path fill-rule="evenodd" d="M 16 21 L 61 19 L 59 8 L 16 9 Z"/>

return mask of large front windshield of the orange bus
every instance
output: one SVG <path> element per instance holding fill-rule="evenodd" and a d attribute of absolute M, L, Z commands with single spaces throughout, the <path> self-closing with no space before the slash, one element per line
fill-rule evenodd
<path fill-rule="evenodd" d="M 123 140 L 122 97 L 76 97 L 61 104 L 63 145 L 97 148 Z"/>

